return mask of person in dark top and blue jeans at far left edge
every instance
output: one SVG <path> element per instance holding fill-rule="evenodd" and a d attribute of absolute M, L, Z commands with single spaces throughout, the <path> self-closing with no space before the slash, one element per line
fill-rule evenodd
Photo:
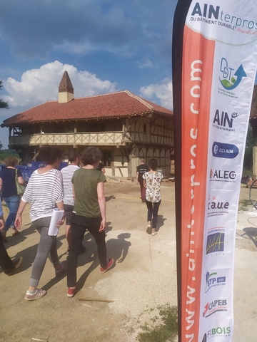
<path fill-rule="evenodd" d="M 6 167 L 0 172 L 0 193 L 4 198 L 4 202 L 6 202 L 9 214 L 4 229 L 1 229 L 1 234 L 3 236 L 3 241 L 6 242 L 6 232 L 9 228 L 13 229 L 13 237 L 19 234 L 14 225 L 14 219 L 21 200 L 21 197 L 17 193 L 16 177 L 19 184 L 24 184 L 26 181 L 21 175 L 21 170 L 16 169 L 16 165 L 18 165 L 19 162 L 16 157 L 8 157 L 4 162 Z"/>

